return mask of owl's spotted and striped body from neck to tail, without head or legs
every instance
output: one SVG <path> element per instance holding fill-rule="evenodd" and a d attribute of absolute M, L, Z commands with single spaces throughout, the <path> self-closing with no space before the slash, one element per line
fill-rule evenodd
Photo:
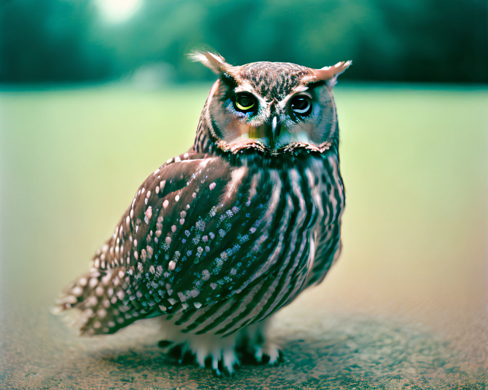
<path fill-rule="evenodd" d="M 87 334 L 155 315 L 182 332 L 222 336 L 262 321 L 337 258 L 344 188 L 329 152 L 280 159 L 192 150 L 168 160 L 60 309 L 80 309 Z"/>

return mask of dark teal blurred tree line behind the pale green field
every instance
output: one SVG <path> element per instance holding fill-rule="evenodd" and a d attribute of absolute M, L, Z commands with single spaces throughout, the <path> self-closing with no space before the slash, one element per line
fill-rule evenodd
<path fill-rule="evenodd" d="M 121 23 L 95 1 L 1 0 L 0 82 L 103 81 L 144 66 L 211 78 L 186 59 L 197 48 L 235 64 L 353 59 L 349 79 L 486 83 L 487 20 L 486 0 L 145 0 Z"/>

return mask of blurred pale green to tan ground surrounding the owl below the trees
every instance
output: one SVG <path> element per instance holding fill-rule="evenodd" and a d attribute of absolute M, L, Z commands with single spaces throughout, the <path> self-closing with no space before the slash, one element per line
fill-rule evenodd
<path fill-rule="evenodd" d="M 77 339 L 47 312 L 142 180 L 191 145 L 208 89 L 0 92 L 0 384 L 228 385 L 161 360 L 148 326 Z M 488 88 L 339 84 L 336 103 L 343 254 L 278 315 L 290 360 L 234 385 L 486 389 Z"/>

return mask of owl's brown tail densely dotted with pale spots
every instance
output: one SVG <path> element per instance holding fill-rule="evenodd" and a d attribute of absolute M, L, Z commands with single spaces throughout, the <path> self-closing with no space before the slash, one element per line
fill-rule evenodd
<path fill-rule="evenodd" d="M 78 328 L 81 335 L 118 331 L 147 316 L 147 310 L 139 305 L 138 299 L 126 296 L 124 276 L 123 271 L 116 269 L 92 268 L 67 286 L 53 312 L 77 309 L 71 325 Z"/>

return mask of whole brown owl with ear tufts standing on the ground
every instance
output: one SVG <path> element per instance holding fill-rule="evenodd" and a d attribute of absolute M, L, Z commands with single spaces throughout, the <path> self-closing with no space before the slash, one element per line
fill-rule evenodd
<path fill-rule="evenodd" d="M 191 58 L 218 76 L 193 146 L 147 177 L 57 307 L 76 309 L 88 335 L 161 317 L 180 362 L 189 355 L 220 375 L 243 356 L 279 360 L 268 319 L 339 255 L 345 196 L 331 89 L 351 61 Z"/>

